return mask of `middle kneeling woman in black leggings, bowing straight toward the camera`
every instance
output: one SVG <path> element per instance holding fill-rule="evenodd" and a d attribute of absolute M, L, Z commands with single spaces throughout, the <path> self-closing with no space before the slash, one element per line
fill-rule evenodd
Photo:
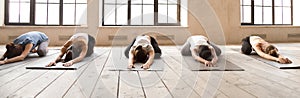
<path fill-rule="evenodd" d="M 148 35 L 137 36 L 126 48 L 125 56 L 129 58 L 128 68 L 134 68 L 134 63 L 144 63 L 141 68 L 148 69 L 154 58 L 160 58 L 161 50 L 157 41 Z"/>

